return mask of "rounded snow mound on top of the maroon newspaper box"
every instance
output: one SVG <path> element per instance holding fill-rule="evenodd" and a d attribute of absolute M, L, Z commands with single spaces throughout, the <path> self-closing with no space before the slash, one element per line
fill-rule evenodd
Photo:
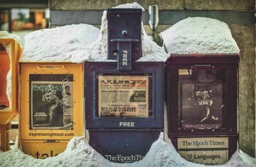
<path fill-rule="evenodd" d="M 170 54 L 239 53 L 228 25 L 216 19 L 188 17 L 160 36 Z"/>

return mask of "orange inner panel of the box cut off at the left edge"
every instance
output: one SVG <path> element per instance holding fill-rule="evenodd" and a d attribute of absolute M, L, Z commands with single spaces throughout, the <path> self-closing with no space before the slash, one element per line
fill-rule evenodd
<path fill-rule="evenodd" d="M 6 76 L 10 70 L 10 58 L 6 51 L 0 51 L 0 110 L 10 106 L 6 94 Z"/>

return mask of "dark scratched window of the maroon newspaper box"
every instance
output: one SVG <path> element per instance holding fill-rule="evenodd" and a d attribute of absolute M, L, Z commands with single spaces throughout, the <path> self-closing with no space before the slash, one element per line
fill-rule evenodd
<path fill-rule="evenodd" d="M 225 70 L 179 70 L 182 129 L 223 127 Z"/>

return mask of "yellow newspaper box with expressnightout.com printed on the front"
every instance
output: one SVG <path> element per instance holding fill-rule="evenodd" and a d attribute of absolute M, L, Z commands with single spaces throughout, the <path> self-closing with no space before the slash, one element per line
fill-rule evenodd
<path fill-rule="evenodd" d="M 36 158 L 83 136 L 83 64 L 20 62 L 20 147 Z"/>

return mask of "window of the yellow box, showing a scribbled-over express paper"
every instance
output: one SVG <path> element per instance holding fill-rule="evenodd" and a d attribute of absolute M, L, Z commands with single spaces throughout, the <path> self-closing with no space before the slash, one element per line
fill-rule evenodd
<path fill-rule="evenodd" d="M 31 129 L 73 129 L 73 75 L 31 74 Z"/>

